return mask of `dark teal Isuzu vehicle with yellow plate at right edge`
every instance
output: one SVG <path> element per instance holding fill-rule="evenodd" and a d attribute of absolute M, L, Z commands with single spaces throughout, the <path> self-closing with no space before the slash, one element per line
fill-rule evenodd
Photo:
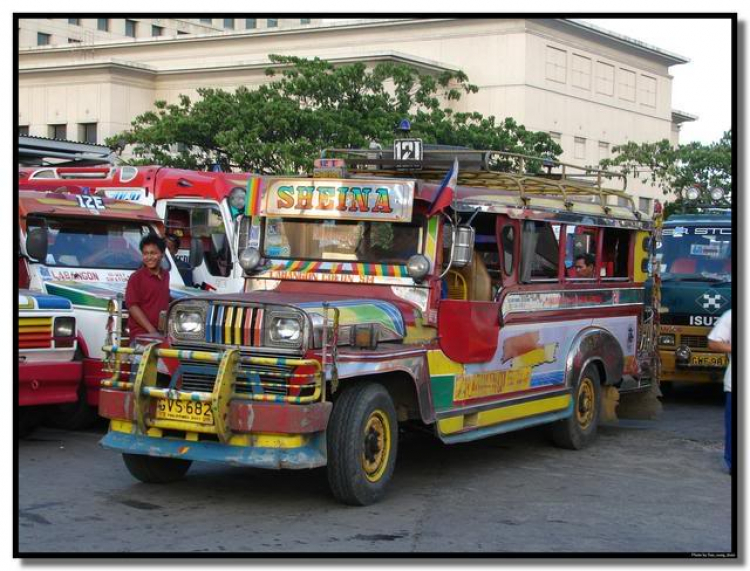
<path fill-rule="evenodd" d="M 721 383 L 727 356 L 708 349 L 708 334 L 732 306 L 731 213 L 671 216 L 664 222 L 657 259 L 663 387 L 675 381 Z"/>

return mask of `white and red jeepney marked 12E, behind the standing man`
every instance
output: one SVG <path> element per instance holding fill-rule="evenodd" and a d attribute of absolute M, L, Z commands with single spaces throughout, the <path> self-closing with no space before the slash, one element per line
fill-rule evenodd
<path fill-rule="evenodd" d="M 74 386 L 76 398 L 61 401 L 51 416 L 64 427 L 82 427 L 97 418 L 100 382 L 109 376 L 102 370 L 102 346 L 114 325 L 108 308 L 122 304 L 117 297 L 141 264 L 139 241 L 148 232 L 161 232 L 161 220 L 150 206 L 86 194 L 21 190 L 18 202 L 18 288 L 38 299 L 61 298 L 72 307 L 77 328 L 72 348 L 64 353 L 73 356 L 72 363 L 47 369 L 44 377 Z M 192 295 L 174 260 L 167 259 L 172 296 Z M 24 319 L 19 320 L 19 346 Z M 63 340 L 54 337 L 61 347 Z"/>

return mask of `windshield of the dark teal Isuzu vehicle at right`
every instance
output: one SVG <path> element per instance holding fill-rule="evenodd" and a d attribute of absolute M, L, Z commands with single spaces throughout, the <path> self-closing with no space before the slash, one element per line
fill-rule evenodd
<path fill-rule="evenodd" d="M 664 228 L 658 252 L 661 272 L 673 276 L 732 277 L 732 229 L 712 226 Z"/>

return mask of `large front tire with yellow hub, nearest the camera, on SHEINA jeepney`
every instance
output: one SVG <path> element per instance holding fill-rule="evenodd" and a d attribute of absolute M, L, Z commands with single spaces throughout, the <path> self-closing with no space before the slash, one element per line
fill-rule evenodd
<path fill-rule="evenodd" d="M 328 423 L 328 483 L 339 501 L 379 501 L 393 476 L 398 450 L 396 409 L 377 383 L 344 389 Z"/>

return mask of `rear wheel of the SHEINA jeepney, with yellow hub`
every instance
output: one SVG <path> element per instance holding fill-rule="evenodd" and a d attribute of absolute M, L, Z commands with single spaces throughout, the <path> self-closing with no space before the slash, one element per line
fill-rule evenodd
<path fill-rule="evenodd" d="M 594 365 L 581 372 L 573 388 L 573 414 L 552 425 L 552 440 L 560 448 L 580 450 L 596 439 L 601 417 L 602 390 Z"/>

